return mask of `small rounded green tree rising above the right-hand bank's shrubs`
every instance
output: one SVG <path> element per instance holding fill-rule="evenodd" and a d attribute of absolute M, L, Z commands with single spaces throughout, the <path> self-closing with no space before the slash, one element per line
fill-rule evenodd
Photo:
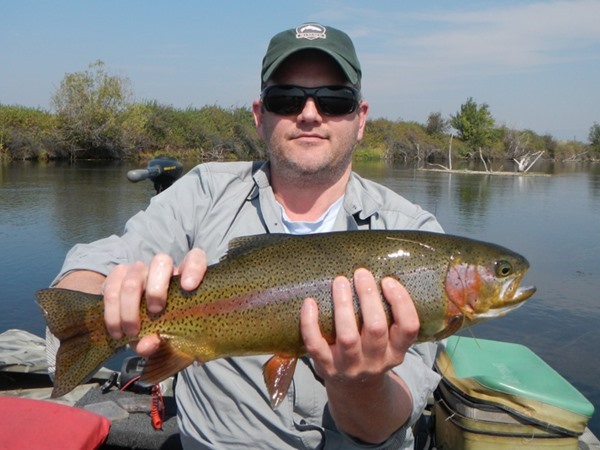
<path fill-rule="evenodd" d="M 459 112 L 450 116 L 450 125 L 471 150 L 481 151 L 492 144 L 496 137 L 494 118 L 488 105 L 478 105 L 471 97 L 460 106 Z"/>

